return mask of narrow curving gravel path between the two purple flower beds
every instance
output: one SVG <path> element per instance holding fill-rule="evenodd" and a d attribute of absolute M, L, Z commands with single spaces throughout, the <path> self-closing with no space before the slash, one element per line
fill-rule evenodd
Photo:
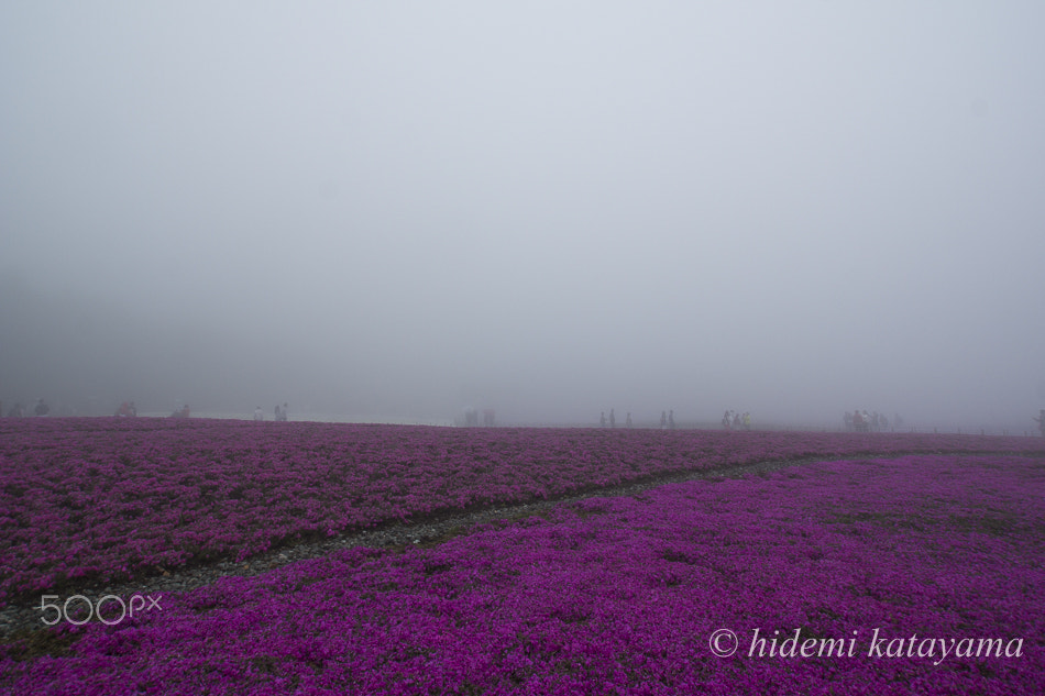
<path fill-rule="evenodd" d="M 793 460 L 770 460 L 750 464 L 733 464 L 715 468 L 661 474 L 645 477 L 640 480 L 616 486 L 592 487 L 578 493 L 571 493 L 543 500 L 531 500 L 512 505 L 493 505 L 472 510 L 446 511 L 427 515 L 407 522 L 389 521 L 366 530 L 341 534 L 339 537 L 318 541 L 304 541 L 258 554 L 244 562 L 217 561 L 212 563 L 175 568 L 166 571 L 157 566 L 156 575 L 143 577 L 135 582 L 87 585 L 76 592 L 59 594 L 57 599 L 62 604 L 68 597 L 82 595 L 97 603 L 107 595 L 129 598 L 133 595 L 143 595 L 160 598 L 167 594 L 187 593 L 198 587 L 210 585 L 221 577 L 239 575 L 250 577 L 267 573 L 273 568 L 297 561 L 324 556 L 333 551 L 354 546 L 389 549 L 404 551 L 410 546 L 421 549 L 443 543 L 454 537 L 468 534 L 477 524 L 497 520 L 519 520 L 534 515 L 541 515 L 554 507 L 569 505 L 578 500 L 594 497 L 634 496 L 651 488 L 666 484 L 683 483 L 689 480 L 723 480 L 726 478 L 743 478 L 750 475 L 761 475 L 781 468 L 813 464 L 817 462 L 839 461 L 872 461 L 895 459 L 909 455 L 922 456 L 1005 456 L 1018 455 L 1024 457 L 1045 457 L 1045 452 L 1012 453 L 1012 452 L 906 452 L 906 453 L 872 453 L 861 455 L 831 456 L 815 455 Z M 57 590 L 55 590 L 57 592 Z M 42 601 L 42 600 L 41 600 Z M 162 598 L 158 599 L 162 606 Z M 75 606 L 75 603 L 74 603 Z M 42 622 L 41 605 L 37 603 L 14 601 L 0 609 L 0 645 L 8 645 L 15 659 L 32 659 L 41 654 L 58 656 L 64 654 L 75 637 L 57 638 Z"/>

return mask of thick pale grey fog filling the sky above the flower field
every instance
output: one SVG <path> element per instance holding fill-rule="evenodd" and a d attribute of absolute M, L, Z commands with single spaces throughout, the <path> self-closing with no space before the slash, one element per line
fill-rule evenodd
<path fill-rule="evenodd" d="M 1038 2 L 8 2 L 0 400 L 1032 429 Z"/>

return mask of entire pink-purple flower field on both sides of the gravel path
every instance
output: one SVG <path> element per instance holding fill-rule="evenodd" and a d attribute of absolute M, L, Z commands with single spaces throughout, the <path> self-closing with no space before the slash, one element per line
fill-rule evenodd
<path fill-rule="evenodd" d="M 9 601 L 316 534 L 734 464 L 352 549 L 0 647 L 43 694 L 1036 694 L 1042 441 L 0 420 Z M 847 457 L 847 459 L 842 459 Z M 853 459 L 848 459 L 853 457 Z M 728 631 L 728 632 L 727 632 Z"/>

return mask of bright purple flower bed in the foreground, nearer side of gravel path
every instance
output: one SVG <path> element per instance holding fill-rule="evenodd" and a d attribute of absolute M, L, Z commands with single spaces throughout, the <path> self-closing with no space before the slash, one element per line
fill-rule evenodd
<path fill-rule="evenodd" d="M 804 463 L 228 577 L 0 688 L 1037 694 L 1043 561 L 1041 456 Z"/>

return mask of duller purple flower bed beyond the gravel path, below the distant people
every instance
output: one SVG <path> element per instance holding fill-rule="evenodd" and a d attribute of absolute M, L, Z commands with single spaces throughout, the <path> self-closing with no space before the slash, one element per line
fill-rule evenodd
<path fill-rule="evenodd" d="M 0 419 L 0 606 L 387 521 L 805 456 L 1028 438 Z"/>

